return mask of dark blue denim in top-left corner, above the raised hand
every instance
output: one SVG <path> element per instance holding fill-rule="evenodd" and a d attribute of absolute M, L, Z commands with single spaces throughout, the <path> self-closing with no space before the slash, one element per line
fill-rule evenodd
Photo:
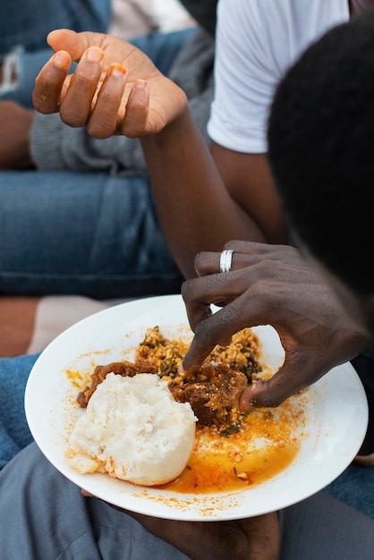
<path fill-rule="evenodd" d="M 106 32 L 112 15 L 110 0 L 3 0 L 0 3 L 0 55 L 14 47 L 38 51 L 47 46 L 49 31 Z"/>

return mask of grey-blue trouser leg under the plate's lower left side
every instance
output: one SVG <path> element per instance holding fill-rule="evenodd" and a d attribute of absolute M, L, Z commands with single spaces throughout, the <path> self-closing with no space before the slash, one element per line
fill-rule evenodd
<path fill-rule="evenodd" d="M 187 560 L 126 513 L 81 496 L 35 444 L 1 471 L 0 501 L 4 558 Z"/>

